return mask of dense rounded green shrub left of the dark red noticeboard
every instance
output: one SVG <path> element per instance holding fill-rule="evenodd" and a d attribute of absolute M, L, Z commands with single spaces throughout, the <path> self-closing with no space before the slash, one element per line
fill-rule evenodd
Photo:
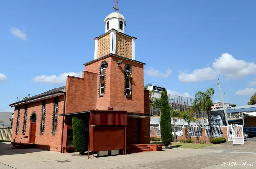
<path fill-rule="evenodd" d="M 86 133 L 88 130 L 86 126 L 83 119 L 78 117 L 72 118 L 73 148 L 80 154 L 83 154 L 88 148 L 88 145 L 86 146 Z"/>

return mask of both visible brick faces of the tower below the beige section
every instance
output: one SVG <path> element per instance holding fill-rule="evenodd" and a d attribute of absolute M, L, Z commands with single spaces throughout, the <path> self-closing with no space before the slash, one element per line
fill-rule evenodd
<path fill-rule="evenodd" d="M 144 113 L 144 72 L 143 65 L 129 60 L 123 60 L 120 66 L 117 66 L 119 57 L 109 56 L 85 66 L 85 70 L 97 73 L 97 82 L 99 81 L 100 63 L 106 60 L 106 86 L 103 97 L 98 95 L 98 83 L 96 85 L 96 100 L 98 110 L 107 110 L 109 106 L 114 110 L 127 111 L 133 113 Z M 124 95 L 124 65 L 132 66 L 132 98 L 126 98 Z"/>

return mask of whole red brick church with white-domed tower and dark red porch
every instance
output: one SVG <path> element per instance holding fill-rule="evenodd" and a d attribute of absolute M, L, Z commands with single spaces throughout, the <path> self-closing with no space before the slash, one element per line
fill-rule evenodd
<path fill-rule="evenodd" d="M 88 119 L 90 151 L 126 152 L 130 145 L 150 144 L 149 91 L 145 63 L 135 60 L 137 38 L 124 34 L 126 21 L 118 12 L 104 22 L 105 33 L 93 39 L 94 60 L 84 64 L 81 78 L 67 76 L 66 86 L 10 105 L 17 146 L 22 139 L 39 149 L 73 149 L 73 116 Z"/>

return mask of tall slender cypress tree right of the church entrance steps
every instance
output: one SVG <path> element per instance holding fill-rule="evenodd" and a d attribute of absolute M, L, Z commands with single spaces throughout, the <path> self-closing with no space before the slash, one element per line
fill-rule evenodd
<path fill-rule="evenodd" d="M 161 93 L 161 115 L 160 115 L 161 139 L 167 148 L 173 139 L 170 106 L 167 92 Z"/>

